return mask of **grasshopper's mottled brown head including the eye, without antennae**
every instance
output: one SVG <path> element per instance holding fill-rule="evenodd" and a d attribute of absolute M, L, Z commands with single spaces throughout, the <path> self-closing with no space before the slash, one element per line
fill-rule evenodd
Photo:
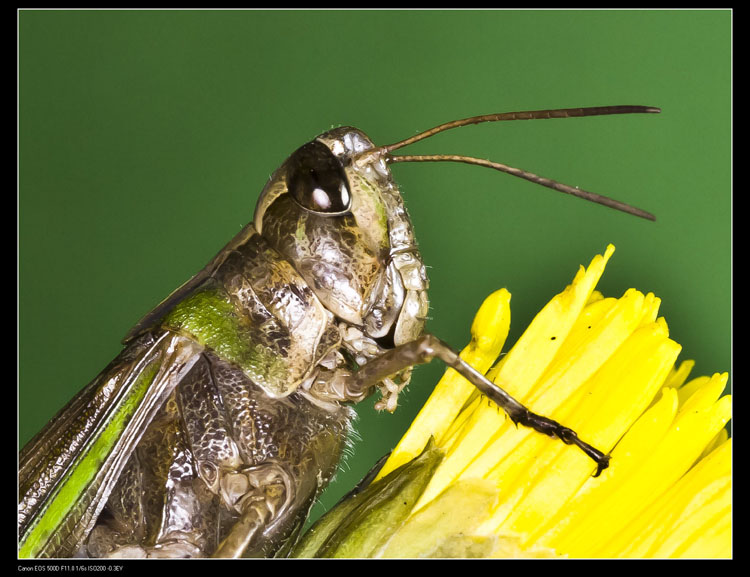
<path fill-rule="evenodd" d="M 258 232 L 323 305 L 383 348 L 422 333 L 427 276 L 382 149 L 341 127 L 295 151 L 255 212 Z"/>

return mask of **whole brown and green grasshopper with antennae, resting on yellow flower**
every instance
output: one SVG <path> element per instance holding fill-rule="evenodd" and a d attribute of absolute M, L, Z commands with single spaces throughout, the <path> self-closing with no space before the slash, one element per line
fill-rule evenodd
<path fill-rule="evenodd" d="M 270 177 L 253 221 L 149 312 L 21 451 L 21 557 L 258 557 L 288 550 L 345 446 L 350 405 L 393 411 L 442 360 L 517 424 L 608 455 L 532 413 L 424 332 L 428 280 L 390 165 L 455 161 L 653 219 L 500 163 L 396 155 L 480 122 L 654 113 L 611 106 L 475 116 L 387 146 L 340 127 Z M 592 466 L 593 468 L 593 466 Z"/>

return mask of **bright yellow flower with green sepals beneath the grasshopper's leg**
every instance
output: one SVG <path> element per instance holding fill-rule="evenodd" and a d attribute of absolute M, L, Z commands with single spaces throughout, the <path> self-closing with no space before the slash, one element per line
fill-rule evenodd
<path fill-rule="evenodd" d="M 516 427 L 449 369 L 374 481 L 313 526 L 298 556 L 731 556 L 727 374 L 675 367 L 653 294 L 594 289 L 607 247 L 501 360 L 510 294 L 482 304 L 462 358 L 538 414 L 609 451 Z"/>

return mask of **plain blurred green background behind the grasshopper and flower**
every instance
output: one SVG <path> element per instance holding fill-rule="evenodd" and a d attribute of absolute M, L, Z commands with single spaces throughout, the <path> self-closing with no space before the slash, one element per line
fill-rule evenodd
<path fill-rule="evenodd" d="M 462 347 L 483 298 L 507 287 L 512 343 L 611 242 L 599 287 L 655 292 L 694 374 L 730 370 L 731 18 L 19 12 L 19 446 L 251 219 L 286 156 L 342 124 L 384 144 L 489 112 L 662 107 L 467 127 L 408 149 L 490 158 L 658 217 L 478 167 L 398 165 L 430 267 L 428 328 Z M 326 506 L 394 446 L 442 371 L 418 369 L 394 415 L 360 407 L 361 440 Z"/>

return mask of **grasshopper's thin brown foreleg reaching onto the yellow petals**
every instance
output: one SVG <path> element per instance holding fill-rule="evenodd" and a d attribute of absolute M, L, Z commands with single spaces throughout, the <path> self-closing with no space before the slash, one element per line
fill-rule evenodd
<path fill-rule="evenodd" d="M 579 439 L 572 429 L 531 412 L 482 373 L 463 361 L 458 353 L 446 343 L 430 334 L 422 335 L 411 342 L 399 345 L 380 357 L 368 361 L 366 365 L 363 365 L 356 373 L 351 375 L 350 386 L 353 390 L 366 390 L 380 380 L 405 368 L 429 363 L 435 358 L 455 369 L 462 377 L 477 387 L 482 394 L 502 408 L 514 423 L 530 427 L 550 437 L 557 437 L 567 445 L 572 444 L 579 447 L 596 462 L 597 470 L 594 476 L 598 476 L 609 465 L 609 455 Z"/>

